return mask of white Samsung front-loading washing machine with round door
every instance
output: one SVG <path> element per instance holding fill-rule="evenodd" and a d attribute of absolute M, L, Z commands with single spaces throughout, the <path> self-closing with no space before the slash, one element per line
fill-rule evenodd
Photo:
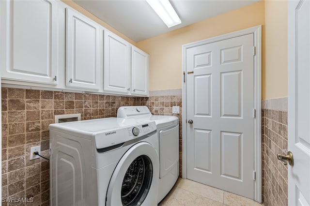
<path fill-rule="evenodd" d="M 50 124 L 51 206 L 155 206 L 155 121 L 103 118 Z"/>

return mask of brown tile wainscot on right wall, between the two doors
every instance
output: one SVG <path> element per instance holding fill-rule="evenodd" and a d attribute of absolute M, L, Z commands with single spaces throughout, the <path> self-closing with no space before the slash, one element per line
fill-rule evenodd
<path fill-rule="evenodd" d="M 263 203 L 265 206 L 287 206 L 287 166 L 281 163 L 276 156 L 278 153 L 286 154 L 288 148 L 287 98 L 265 101 L 263 107 Z"/>

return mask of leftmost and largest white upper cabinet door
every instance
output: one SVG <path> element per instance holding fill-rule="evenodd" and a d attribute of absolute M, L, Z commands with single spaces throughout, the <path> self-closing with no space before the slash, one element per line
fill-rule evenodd
<path fill-rule="evenodd" d="M 0 8 L 1 77 L 56 85 L 57 2 L 1 0 Z"/>

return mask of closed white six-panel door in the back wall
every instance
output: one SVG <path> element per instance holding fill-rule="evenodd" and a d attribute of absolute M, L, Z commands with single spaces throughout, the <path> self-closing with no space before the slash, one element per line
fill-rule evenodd
<path fill-rule="evenodd" d="M 186 50 L 187 178 L 251 199 L 253 39 L 247 34 Z"/>

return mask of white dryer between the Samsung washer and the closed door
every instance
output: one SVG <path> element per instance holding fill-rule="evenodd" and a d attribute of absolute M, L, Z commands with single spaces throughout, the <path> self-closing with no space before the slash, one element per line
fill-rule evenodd
<path fill-rule="evenodd" d="M 159 141 L 159 203 L 179 177 L 179 118 L 152 115 L 147 106 L 122 106 L 117 110 L 117 117 L 155 120 Z"/>

